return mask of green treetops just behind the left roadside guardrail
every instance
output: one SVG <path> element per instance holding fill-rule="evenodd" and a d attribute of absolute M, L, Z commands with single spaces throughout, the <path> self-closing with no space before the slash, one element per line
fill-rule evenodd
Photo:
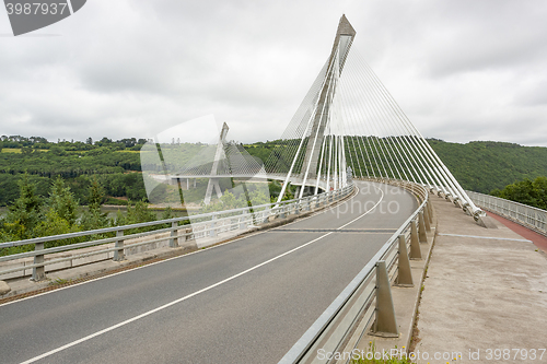
<path fill-rule="evenodd" d="M 5 216 L 0 219 L 0 243 L 156 220 L 156 214 L 149 209 L 144 199 L 130 203 L 127 208 L 127 214 L 121 214 L 118 210 L 115 218 L 108 218 L 106 213 L 101 211 L 105 193 L 98 178 L 93 178 L 88 187 L 86 209 L 81 209 L 80 201 L 61 176 L 57 176 L 53 180 L 48 196 L 45 198 L 37 195 L 37 185 L 32 181 L 28 174 L 23 174 L 18 185 L 19 197 L 10 206 Z M 167 208 L 161 219 L 171 218 L 174 218 L 173 211 Z M 166 226 L 151 226 L 135 232 L 162 227 Z M 128 232 L 128 234 L 130 233 L 133 232 Z M 104 234 L 104 236 L 98 237 L 110 236 L 114 235 Z M 86 239 L 90 237 L 48 242 L 45 247 L 80 243 Z M 33 245 L 1 248 L 0 256 L 33 249 Z"/>

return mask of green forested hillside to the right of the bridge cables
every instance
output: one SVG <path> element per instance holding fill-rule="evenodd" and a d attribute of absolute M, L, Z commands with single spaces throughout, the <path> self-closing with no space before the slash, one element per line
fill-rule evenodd
<path fill-rule="evenodd" d="M 428 139 L 459 184 L 468 190 L 492 189 L 525 178 L 547 176 L 547 148 L 475 141 L 466 144 Z"/>

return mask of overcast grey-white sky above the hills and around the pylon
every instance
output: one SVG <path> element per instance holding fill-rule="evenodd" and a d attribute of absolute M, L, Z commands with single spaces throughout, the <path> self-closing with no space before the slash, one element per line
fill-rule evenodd
<path fill-rule="evenodd" d="M 0 10 L 0 134 L 149 138 L 213 114 L 277 139 L 342 13 L 424 137 L 547 146 L 545 0 L 89 0 L 19 37 Z"/>

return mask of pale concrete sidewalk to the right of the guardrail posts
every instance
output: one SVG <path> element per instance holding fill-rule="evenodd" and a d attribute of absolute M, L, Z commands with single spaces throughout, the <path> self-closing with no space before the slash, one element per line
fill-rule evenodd
<path fill-rule="evenodd" d="M 438 235 L 412 344 L 417 363 L 547 363 L 546 255 L 499 222 L 487 230 L 431 200 Z"/>

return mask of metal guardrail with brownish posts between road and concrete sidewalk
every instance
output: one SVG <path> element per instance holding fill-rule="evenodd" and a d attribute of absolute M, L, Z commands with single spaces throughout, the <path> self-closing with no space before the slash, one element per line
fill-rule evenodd
<path fill-rule="evenodd" d="M 371 179 L 368 179 L 371 180 Z M 420 243 L 431 231 L 432 208 L 426 187 L 403 180 L 374 181 L 403 187 L 421 202 L 359 274 L 346 286 L 279 364 L 329 363 L 317 350 L 340 352 L 352 329 L 361 321 L 381 337 L 398 337 L 391 285 L 412 285 L 409 259 L 421 258 Z M 336 362 L 336 360 L 333 360 Z"/>

